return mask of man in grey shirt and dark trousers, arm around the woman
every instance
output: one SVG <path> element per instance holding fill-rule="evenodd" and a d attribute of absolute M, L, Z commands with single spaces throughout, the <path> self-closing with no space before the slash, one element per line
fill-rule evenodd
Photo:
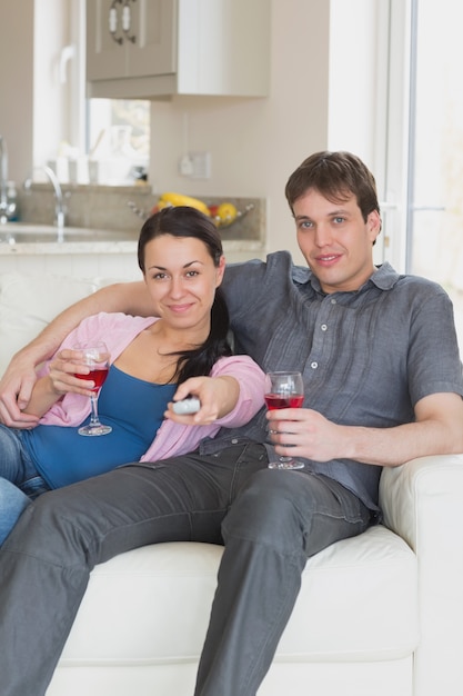
<path fill-rule="evenodd" d="M 350 153 L 320 152 L 290 177 L 286 198 L 309 269 L 281 251 L 231 267 L 224 289 L 239 350 L 266 370 L 302 371 L 305 408 L 262 411 L 192 455 L 122 467 L 28 506 L 0 553 L 3 696 L 43 694 L 97 563 L 181 539 L 224 544 L 195 696 L 255 695 L 306 559 L 378 520 L 381 467 L 463 451 L 451 302 L 435 284 L 374 267 L 371 172 Z M 30 366 L 70 324 L 102 308 L 140 314 L 140 298 L 124 286 L 64 314 L 14 361 L 3 414 L 27 425 L 16 395 L 26 385 L 27 398 Z M 268 428 L 276 454 L 303 457 L 304 469 L 266 467 Z"/>

